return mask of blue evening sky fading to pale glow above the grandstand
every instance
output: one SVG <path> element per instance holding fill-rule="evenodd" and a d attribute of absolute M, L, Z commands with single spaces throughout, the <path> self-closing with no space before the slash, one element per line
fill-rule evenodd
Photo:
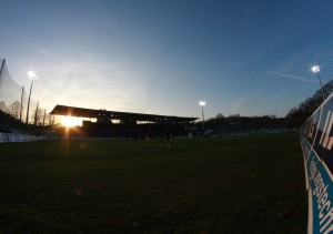
<path fill-rule="evenodd" d="M 0 0 L 0 58 L 57 104 L 285 116 L 333 75 L 331 0 Z"/>

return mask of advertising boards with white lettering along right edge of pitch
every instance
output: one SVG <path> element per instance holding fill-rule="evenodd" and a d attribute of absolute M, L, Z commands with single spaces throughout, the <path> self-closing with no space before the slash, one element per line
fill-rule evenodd
<path fill-rule="evenodd" d="M 309 191 L 307 233 L 333 233 L 333 94 L 300 131 Z"/>

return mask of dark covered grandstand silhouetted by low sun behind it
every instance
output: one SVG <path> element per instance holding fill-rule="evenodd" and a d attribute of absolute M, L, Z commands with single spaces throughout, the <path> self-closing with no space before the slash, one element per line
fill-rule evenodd
<path fill-rule="evenodd" d="M 131 138 L 143 139 L 148 132 L 153 138 L 163 138 L 167 130 L 174 136 L 188 135 L 195 130 L 194 121 L 199 118 L 170 116 L 159 114 L 143 114 L 107 111 L 103 109 L 84 109 L 67 105 L 57 105 L 50 114 L 82 118 L 80 131 L 72 136 L 94 138 Z M 91 119 L 95 120 L 92 121 Z M 77 135 L 75 135 L 77 134 Z"/>

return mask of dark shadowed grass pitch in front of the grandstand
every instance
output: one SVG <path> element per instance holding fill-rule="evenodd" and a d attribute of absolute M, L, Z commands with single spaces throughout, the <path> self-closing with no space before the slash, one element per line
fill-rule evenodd
<path fill-rule="evenodd" d="M 292 134 L 0 144 L 0 232 L 305 233 Z"/>

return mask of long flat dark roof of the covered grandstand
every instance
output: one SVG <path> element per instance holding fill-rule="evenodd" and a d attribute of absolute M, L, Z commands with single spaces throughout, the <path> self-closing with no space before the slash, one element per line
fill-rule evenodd
<path fill-rule="evenodd" d="M 121 121 L 148 121 L 148 122 L 191 122 L 199 118 L 183 118 L 183 116 L 169 116 L 158 114 L 140 114 L 130 112 L 117 112 L 107 110 L 94 110 L 84 108 L 74 108 L 67 105 L 57 105 L 50 114 L 54 115 L 70 115 L 78 118 L 95 118 L 95 119 L 110 119 Z"/>

